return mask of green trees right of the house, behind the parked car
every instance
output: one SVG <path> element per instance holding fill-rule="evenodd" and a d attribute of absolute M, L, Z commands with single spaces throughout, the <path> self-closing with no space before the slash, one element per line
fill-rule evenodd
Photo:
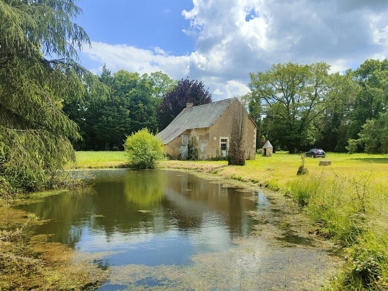
<path fill-rule="evenodd" d="M 326 63 L 273 65 L 251 73 L 249 110 L 258 144 L 277 150 L 388 153 L 388 60 L 344 74 Z"/>

